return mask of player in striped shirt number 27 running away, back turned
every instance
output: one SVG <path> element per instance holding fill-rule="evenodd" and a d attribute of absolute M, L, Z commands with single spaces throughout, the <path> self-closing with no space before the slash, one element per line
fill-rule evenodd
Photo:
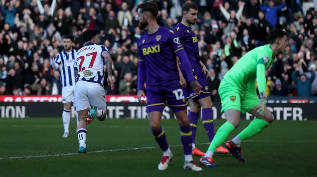
<path fill-rule="evenodd" d="M 112 59 L 104 45 L 98 45 L 99 36 L 95 30 L 86 30 L 82 34 L 85 46 L 76 53 L 74 62 L 76 85 L 75 105 L 78 112 L 77 135 L 79 140 L 79 153 L 86 153 L 86 124 L 94 118 L 104 121 L 107 115 L 105 98 L 104 64 L 108 72 L 107 82 L 113 90 Z"/>

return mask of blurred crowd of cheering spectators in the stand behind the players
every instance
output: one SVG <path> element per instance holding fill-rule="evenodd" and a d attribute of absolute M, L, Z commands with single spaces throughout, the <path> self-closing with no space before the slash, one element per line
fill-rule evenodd
<path fill-rule="evenodd" d="M 152 0 L 159 6 L 159 25 L 173 29 L 181 21 L 181 6 L 199 7 L 193 31 L 213 101 L 226 72 L 246 52 L 267 44 L 272 28 L 285 29 L 288 47 L 266 71 L 269 96 L 317 95 L 317 12 L 303 12 L 301 0 Z M 62 36 L 72 34 L 74 48 L 83 45 L 86 29 L 100 32 L 110 51 L 115 88 L 107 94 L 136 94 L 136 6 L 142 0 L 1 0 L 0 95 L 61 94 L 60 73 L 49 53 L 59 53 Z M 106 69 L 106 68 L 105 68 Z M 107 77 L 107 75 L 105 75 Z"/>

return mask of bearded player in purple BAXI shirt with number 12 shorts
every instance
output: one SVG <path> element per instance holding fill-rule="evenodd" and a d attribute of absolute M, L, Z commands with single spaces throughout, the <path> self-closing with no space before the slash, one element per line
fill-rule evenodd
<path fill-rule="evenodd" d="M 187 103 L 180 85 L 176 55 L 182 62 L 183 73 L 186 73 L 186 80 L 191 88 L 199 93 L 201 86 L 194 78 L 191 65 L 177 35 L 172 30 L 158 25 L 157 5 L 152 2 L 144 2 L 137 7 L 137 13 L 139 28 L 147 28 L 146 34 L 141 36 L 138 42 L 138 99 L 141 102 L 141 98 L 145 97 L 143 85 L 146 82 L 148 119 L 152 134 L 163 151 L 159 170 L 166 170 L 173 158 L 165 132 L 160 125 L 167 101 L 180 126 L 181 142 L 185 154 L 183 168 L 201 171 L 202 168 L 198 167 L 192 158 L 192 132 L 187 117 Z"/>

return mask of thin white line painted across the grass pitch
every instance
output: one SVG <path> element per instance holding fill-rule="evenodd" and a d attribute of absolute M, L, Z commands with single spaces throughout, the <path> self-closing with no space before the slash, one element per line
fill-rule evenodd
<path fill-rule="evenodd" d="M 243 142 L 271 142 L 271 140 L 247 140 Z M 306 141 L 287 141 L 287 142 L 306 142 Z M 225 142 L 224 142 L 225 143 Z M 196 145 L 206 145 L 209 143 L 197 143 Z M 180 147 L 182 145 L 170 145 L 170 147 Z M 109 150 L 95 150 L 89 151 L 89 154 L 103 153 L 103 152 L 117 152 L 117 151 L 129 151 L 129 150 L 143 150 L 143 149 L 154 149 L 159 148 L 158 146 L 149 147 L 135 147 L 135 148 L 125 148 L 125 149 L 109 149 Z M 71 156 L 77 155 L 78 152 L 70 152 L 65 154 L 52 154 L 52 155 L 29 155 L 29 156 L 13 156 L 13 157 L 0 157 L 0 160 L 10 160 L 10 159 L 29 159 L 29 158 L 41 158 L 41 157 L 59 157 L 59 156 Z"/>

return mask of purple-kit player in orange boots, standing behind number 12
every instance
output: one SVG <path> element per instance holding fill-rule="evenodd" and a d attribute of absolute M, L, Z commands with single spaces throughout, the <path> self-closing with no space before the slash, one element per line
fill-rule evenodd
<path fill-rule="evenodd" d="M 186 87 L 187 84 L 186 82 L 184 82 L 184 77 L 181 70 L 179 70 L 179 75 L 182 85 L 183 87 L 185 87 L 183 89 L 184 95 L 186 99 L 188 99 L 188 103 L 190 106 L 188 119 L 192 131 L 192 153 L 193 155 L 204 156 L 205 153 L 201 152 L 200 150 L 198 150 L 197 147 L 195 147 L 195 137 L 198 117 L 201 110 L 202 122 L 207 132 L 209 142 L 211 142 L 214 137 L 212 102 L 206 79 L 206 77 L 208 77 L 209 75 L 209 71 L 199 59 L 198 39 L 196 34 L 190 27 L 190 25 L 194 25 L 196 23 L 198 7 L 194 3 L 187 2 L 183 4 L 182 12 L 182 22 L 176 25 L 176 27 L 174 28 L 174 32 L 179 37 L 179 40 L 181 41 L 186 51 L 186 54 L 193 68 L 195 79 L 202 86 L 202 90 L 200 91 L 199 95 L 196 94 L 190 87 Z M 181 64 L 180 68 L 182 68 Z M 186 73 L 184 73 L 184 75 L 185 74 Z M 219 146 L 216 149 L 216 152 L 229 153 L 229 151 L 222 146 Z"/>

